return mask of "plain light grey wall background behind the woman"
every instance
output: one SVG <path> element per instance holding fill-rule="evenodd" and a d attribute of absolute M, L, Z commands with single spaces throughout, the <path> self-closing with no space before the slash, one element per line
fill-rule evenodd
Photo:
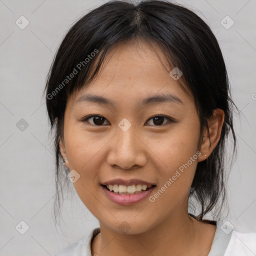
<path fill-rule="evenodd" d="M 230 211 L 222 222 L 228 220 L 241 232 L 256 231 L 256 1 L 176 2 L 193 9 L 216 35 L 240 110 L 240 120 L 234 115 L 238 156 L 228 180 Z M 73 190 L 63 205 L 61 229 L 55 229 L 54 152 L 42 91 L 70 25 L 102 3 L 0 0 L 0 255 L 52 255 L 98 225 Z M 29 21 L 24 29 L 15 23 L 21 15 Z M 234 21 L 229 29 L 220 23 L 226 15 Z M 27 127 L 20 126 L 21 118 Z M 24 234 L 15 228 L 21 220 L 29 226 Z"/>

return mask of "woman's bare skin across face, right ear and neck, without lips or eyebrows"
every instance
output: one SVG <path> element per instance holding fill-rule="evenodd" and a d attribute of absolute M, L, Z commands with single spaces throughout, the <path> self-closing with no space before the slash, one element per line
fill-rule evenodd
<path fill-rule="evenodd" d="M 160 49 L 158 54 L 163 57 Z M 183 104 L 139 106 L 143 98 L 162 92 L 174 94 Z M 89 101 L 76 104 L 86 93 L 109 98 L 116 106 Z M 81 121 L 90 114 L 103 116 L 104 124 L 96 125 L 93 118 Z M 164 118 L 157 125 L 151 118 L 157 115 L 176 122 Z M 123 118 L 131 123 L 125 132 L 118 127 Z M 92 255 L 208 254 L 216 227 L 188 215 L 188 190 L 197 162 L 205 160 L 216 146 L 223 120 L 223 110 L 215 109 L 208 122 L 209 134 L 204 132 L 198 147 L 200 122 L 193 98 L 143 41 L 114 47 L 96 79 L 68 98 L 64 139 L 60 141 L 62 157 L 68 159 L 66 166 L 80 175 L 73 183 L 75 190 L 100 224 L 101 232 L 91 243 Z M 109 179 L 138 178 L 156 184 L 154 190 L 158 190 L 196 151 L 201 155 L 154 202 L 145 198 L 119 205 L 101 189 L 100 184 Z M 129 225 L 126 233 L 118 228 L 123 221 Z"/>

